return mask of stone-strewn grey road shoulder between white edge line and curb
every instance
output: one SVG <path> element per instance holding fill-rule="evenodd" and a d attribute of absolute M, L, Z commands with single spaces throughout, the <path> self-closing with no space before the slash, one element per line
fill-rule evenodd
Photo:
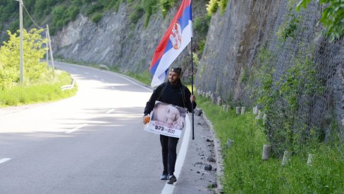
<path fill-rule="evenodd" d="M 197 115 L 195 113 L 195 139 L 190 136 L 188 153 L 173 193 L 218 193 L 216 137 L 206 117 Z"/>

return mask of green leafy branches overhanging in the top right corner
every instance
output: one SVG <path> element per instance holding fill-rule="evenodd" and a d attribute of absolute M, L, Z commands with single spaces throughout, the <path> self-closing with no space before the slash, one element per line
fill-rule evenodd
<path fill-rule="evenodd" d="M 307 8 L 311 0 L 301 0 L 296 10 Z M 339 39 L 344 35 L 344 1 L 343 0 L 319 0 L 320 5 L 326 6 L 321 14 L 319 22 L 324 26 L 324 34 L 328 36 L 329 41 Z"/>

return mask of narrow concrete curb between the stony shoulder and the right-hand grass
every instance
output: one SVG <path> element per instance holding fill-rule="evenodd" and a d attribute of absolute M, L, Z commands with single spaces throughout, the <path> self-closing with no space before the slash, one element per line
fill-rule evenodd
<path fill-rule="evenodd" d="M 205 122 L 209 125 L 211 135 L 213 136 L 214 140 L 214 151 L 215 151 L 215 157 L 216 157 L 216 193 L 223 193 L 223 160 L 221 155 L 221 145 L 219 138 L 216 136 L 216 132 L 214 131 L 213 124 L 209 121 L 207 116 L 202 112 L 202 116 Z"/>

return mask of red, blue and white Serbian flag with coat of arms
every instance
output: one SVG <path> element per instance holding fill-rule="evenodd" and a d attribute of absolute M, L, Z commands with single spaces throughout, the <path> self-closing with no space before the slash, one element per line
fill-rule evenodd
<path fill-rule="evenodd" d="M 183 0 L 180 8 L 162 37 L 149 71 L 153 74 L 151 86 L 159 86 L 165 81 L 168 67 L 188 46 L 192 37 L 191 0 Z"/>

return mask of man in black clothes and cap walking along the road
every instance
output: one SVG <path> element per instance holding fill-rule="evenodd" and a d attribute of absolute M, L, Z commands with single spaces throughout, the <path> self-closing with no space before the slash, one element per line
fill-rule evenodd
<path fill-rule="evenodd" d="M 168 82 L 160 84 L 152 93 L 149 101 L 146 104 L 145 116 L 143 118 L 144 124 L 147 119 L 147 115 L 152 112 L 155 101 L 161 101 L 171 105 L 178 105 L 180 107 L 187 108 L 189 112 L 192 112 L 196 107 L 196 98 L 191 95 L 190 90 L 180 82 L 180 73 L 182 69 L 180 67 L 171 67 L 168 72 Z M 174 176 L 174 169 L 177 160 L 177 143 L 179 138 L 160 135 L 160 143 L 162 150 L 162 163 L 164 165 L 164 171 L 160 177 L 161 180 L 168 180 L 167 183 L 173 184 L 177 181 Z"/>

